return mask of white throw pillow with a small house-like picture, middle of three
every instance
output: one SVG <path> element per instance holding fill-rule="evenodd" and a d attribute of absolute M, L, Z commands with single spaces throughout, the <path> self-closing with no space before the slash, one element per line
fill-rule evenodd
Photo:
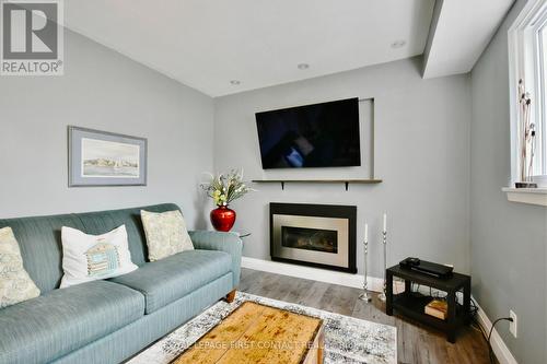
<path fill-rule="evenodd" d="M 62 226 L 61 289 L 132 272 L 126 225 L 103 235 L 88 235 Z"/>

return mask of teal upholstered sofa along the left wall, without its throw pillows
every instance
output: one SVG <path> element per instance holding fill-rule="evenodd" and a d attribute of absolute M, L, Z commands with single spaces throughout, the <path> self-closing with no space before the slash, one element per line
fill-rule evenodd
<path fill-rule="evenodd" d="M 235 290 L 242 242 L 231 233 L 190 232 L 195 250 L 148 262 L 140 210 L 0 220 L 11 226 L 42 295 L 0 309 L 0 363 L 119 363 Z M 139 269 L 59 290 L 61 227 L 103 234 L 125 224 Z"/>

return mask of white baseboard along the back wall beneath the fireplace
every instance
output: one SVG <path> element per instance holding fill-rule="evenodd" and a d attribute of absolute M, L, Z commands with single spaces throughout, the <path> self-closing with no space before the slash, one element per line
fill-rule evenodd
<path fill-rule="evenodd" d="M 279 261 L 263 260 L 248 257 L 243 257 L 241 265 L 243 268 L 260 270 L 268 273 L 276 273 L 282 275 L 302 278 L 312 281 L 346 285 L 353 289 L 362 289 L 364 282 L 364 275 L 361 274 L 336 272 L 326 269 L 289 265 Z M 368 277 L 366 283 L 369 291 L 382 292 L 384 287 L 384 280 L 382 278 Z M 396 290 L 399 290 L 399 285 L 397 283 L 396 283 Z"/>

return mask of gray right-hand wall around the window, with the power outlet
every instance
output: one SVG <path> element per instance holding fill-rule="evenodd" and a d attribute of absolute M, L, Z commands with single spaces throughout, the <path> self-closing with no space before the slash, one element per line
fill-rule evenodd
<path fill-rule="evenodd" d="M 508 202 L 511 178 L 508 28 L 516 3 L 472 73 L 473 294 L 490 319 L 519 317 L 519 339 L 498 331 L 519 363 L 547 363 L 547 208 Z"/>

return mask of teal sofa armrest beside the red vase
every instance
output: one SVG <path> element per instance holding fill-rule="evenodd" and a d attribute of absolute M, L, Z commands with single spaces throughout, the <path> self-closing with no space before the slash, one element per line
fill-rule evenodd
<path fill-rule="evenodd" d="M 222 233 L 213 231 L 188 232 L 196 249 L 220 250 L 232 256 L 232 273 L 234 277 L 234 289 L 240 284 L 241 256 L 243 242 L 234 233 Z"/>

